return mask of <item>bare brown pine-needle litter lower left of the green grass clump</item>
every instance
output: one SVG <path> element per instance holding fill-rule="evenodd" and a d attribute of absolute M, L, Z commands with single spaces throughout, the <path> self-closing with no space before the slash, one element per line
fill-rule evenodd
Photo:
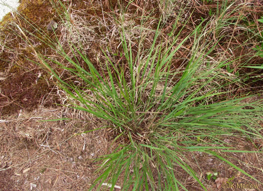
<path fill-rule="evenodd" d="M 68 117 L 65 121 L 40 121 Z M 85 119 L 83 118 L 85 117 Z M 74 116 L 65 108 L 21 111 L 0 122 L 1 190 L 84 190 L 96 177 L 93 160 L 110 153 L 112 137 L 107 129 L 78 134 L 102 125 L 82 113 Z M 4 183 L 10 182 L 10 183 Z"/>

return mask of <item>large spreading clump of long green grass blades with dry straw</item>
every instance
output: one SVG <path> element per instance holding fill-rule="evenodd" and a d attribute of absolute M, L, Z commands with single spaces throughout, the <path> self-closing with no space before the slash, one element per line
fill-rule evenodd
<path fill-rule="evenodd" d="M 217 18 L 200 19 L 187 35 L 184 30 L 189 19 L 180 28 L 176 26 L 182 20 L 182 9 L 172 27 L 176 33 L 165 36 L 162 29 L 171 15 L 172 4 L 164 4 L 169 15 L 162 12 L 166 17 L 162 15 L 156 22 L 154 36 L 148 39 L 149 47 L 143 46 L 146 43 L 143 35 L 137 39 L 138 46 L 129 38 L 125 11 L 119 13 L 119 18 L 114 17 L 119 24 L 116 28 L 122 62 L 113 61 L 111 53 L 102 47 L 104 59 L 98 59 L 96 65 L 87 56 L 84 44 L 68 41 L 66 50 L 58 37 L 56 49 L 52 47 L 63 61 L 35 52 L 67 92 L 72 107 L 107 121 L 105 127 L 111 129 L 114 141 L 119 144 L 111 154 L 97 158 L 101 161 L 99 175 L 90 189 L 99 190 L 106 182 L 113 190 L 121 182 L 122 190 L 187 190 L 184 181 L 190 176 L 206 190 L 205 180 L 191 166 L 188 152 L 213 155 L 259 182 L 221 154 L 245 152 L 222 140 L 223 136 L 262 138 L 257 128 L 262 117 L 260 100 L 247 103 L 243 101 L 247 97 L 227 97 L 229 86 L 241 84 L 238 76 L 225 70 L 237 58 L 213 57 L 223 38 L 220 30 L 236 21 L 235 17 L 223 20 L 233 3 L 227 5 L 225 1 L 221 9 L 217 4 Z M 238 7 L 232 11 L 237 10 Z M 70 14 L 66 8 L 64 13 Z M 62 19 L 69 28 L 73 26 L 70 16 Z M 141 31 L 143 24 L 139 27 Z M 210 40 L 214 35 L 216 39 Z M 30 41 L 27 37 L 26 40 Z M 182 49 L 187 49 L 188 54 L 184 64 L 176 68 L 174 59 Z M 72 77 L 63 79 L 51 65 L 57 65 Z M 176 175 L 178 169 L 184 177 Z"/>

